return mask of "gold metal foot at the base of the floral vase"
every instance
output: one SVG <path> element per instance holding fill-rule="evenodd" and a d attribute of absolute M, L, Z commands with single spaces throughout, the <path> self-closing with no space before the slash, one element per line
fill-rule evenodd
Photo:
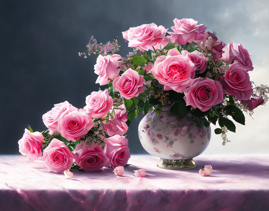
<path fill-rule="evenodd" d="M 175 160 L 175 159 L 160 159 L 160 162 L 157 163 L 159 168 L 168 168 L 168 169 L 186 169 L 194 168 L 195 162 L 192 158 L 185 160 Z"/>

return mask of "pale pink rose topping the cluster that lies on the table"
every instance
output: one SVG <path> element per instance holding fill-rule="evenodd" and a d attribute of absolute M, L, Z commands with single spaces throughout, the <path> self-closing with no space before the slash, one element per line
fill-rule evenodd
<path fill-rule="evenodd" d="M 91 95 L 86 97 L 87 113 L 94 119 L 104 118 L 107 112 L 113 106 L 113 99 L 109 96 L 108 90 L 92 92 Z"/>

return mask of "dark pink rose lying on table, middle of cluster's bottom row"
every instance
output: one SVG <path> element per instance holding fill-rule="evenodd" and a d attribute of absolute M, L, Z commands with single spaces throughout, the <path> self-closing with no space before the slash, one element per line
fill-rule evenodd
<path fill-rule="evenodd" d="M 110 161 L 99 145 L 82 149 L 81 144 L 77 144 L 73 153 L 76 164 L 85 171 L 98 171 L 100 168 L 110 167 Z"/>

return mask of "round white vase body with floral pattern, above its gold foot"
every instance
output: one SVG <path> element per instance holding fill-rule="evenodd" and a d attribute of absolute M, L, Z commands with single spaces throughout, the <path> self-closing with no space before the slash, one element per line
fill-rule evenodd
<path fill-rule="evenodd" d="M 200 155 L 211 138 L 210 126 L 198 126 L 188 113 L 180 118 L 169 110 L 158 116 L 148 113 L 139 123 L 138 135 L 144 149 L 164 159 L 190 159 Z M 198 119 L 199 120 L 199 119 Z"/>

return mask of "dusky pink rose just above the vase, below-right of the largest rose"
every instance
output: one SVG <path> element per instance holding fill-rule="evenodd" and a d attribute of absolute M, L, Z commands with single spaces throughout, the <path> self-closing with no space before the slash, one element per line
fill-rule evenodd
<path fill-rule="evenodd" d="M 196 78 L 189 88 L 184 90 L 187 106 L 207 111 L 212 106 L 223 102 L 222 85 L 209 78 Z"/>

